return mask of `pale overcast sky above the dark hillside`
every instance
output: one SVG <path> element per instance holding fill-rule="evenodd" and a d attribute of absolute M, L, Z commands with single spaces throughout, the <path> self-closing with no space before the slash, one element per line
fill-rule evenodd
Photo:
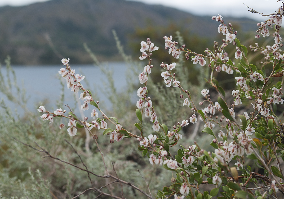
<path fill-rule="evenodd" d="M 47 0 L 0 0 L 0 6 L 12 5 L 22 6 L 35 2 L 43 2 Z M 265 20 L 265 17 L 259 14 L 249 13 L 248 7 L 254 10 L 269 14 L 273 13 L 278 7 L 283 5 L 277 0 L 128 0 L 140 1 L 148 4 L 162 4 L 168 7 L 174 7 L 183 11 L 197 15 L 231 15 L 235 17 L 246 16 L 258 20 Z"/>

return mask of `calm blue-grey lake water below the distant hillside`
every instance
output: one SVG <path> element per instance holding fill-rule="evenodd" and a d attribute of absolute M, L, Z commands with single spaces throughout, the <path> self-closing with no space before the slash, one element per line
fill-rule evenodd
<path fill-rule="evenodd" d="M 126 72 L 127 66 L 124 62 L 109 62 L 104 63 L 104 67 L 111 70 L 113 73 L 112 79 L 114 81 L 115 88 L 119 92 L 123 92 L 127 86 Z M 110 101 L 107 99 L 105 93 L 102 91 L 104 86 L 103 82 L 107 82 L 106 75 L 101 71 L 100 67 L 94 65 L 70 65 L 72 69 L 75 69 L 75 73 L 85 75 L 85 79 L 81 82 L 84 88 L 89 89 L 86 82 L 89 83 L 90 90 L 95 92 L 99 96 L 100 102 L 104 102 L 105 105 L 110 105 Z M 70 89 L 67 89 L 66 80 L 59 75 L 58 71 L 62 68 L 62 65 L 46 65 L 46 66 L 12 66 L 17 77 L 17 84 L 24 85 L 26 89 L 26 96 L 28 98 L 27 107 L 32 112 L 35 112 L 38 105 L 44 105 L 49 111 L 53 111 L 56 108 L 56 101 L 60 98 L 60 93 L 62 92 L 62 86 L 60 85 L 60 80 L 64 83 L 64 103 L 74 107 L 74 93 Z M 143 70 L 143 69 L 142 69 Z M 2 74 L 6 75 L 7 71 L 5 67 L 2 67 Z M 5 78 L 4 78 L 5 79 Z M 137 76 L 138 82 L 138 76 Z M 15 91 L 15 89 L 12 89 Z M 94 94 L 94 93 L 93 93 Z M 79 92 L 80 95 L 80 92 Z M 21 107 L 16 106 L 14 103 L 9 102 L 2 93 L 0 93 L 0 99 L 4 98 L 5 103 L 20 115 L 24 114 Z M 97 99 L 95 99 L 96 101 Z M 80 100 L 82 103 L 83 101 Z M 60 107 L 64 108 L 63 105 Z M 85 113 L 89 115 L 88 110 Z M 89 117 L 89 116 L 88 116 Z"/>

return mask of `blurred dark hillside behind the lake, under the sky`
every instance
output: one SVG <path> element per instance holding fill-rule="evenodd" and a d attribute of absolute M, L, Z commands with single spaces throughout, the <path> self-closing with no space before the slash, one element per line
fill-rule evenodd
<path fill-rule="evenodd" d="M 256 22 L 245 18 L 231 20 L 241 22 L 244 31 L 256 30 Z M 130 52 L 129 38 L 149 24 L 176 24 L 189 34 L 204 37 L 215 37 L 218 26 L 211 17 L 125 0 L 51 0 L 22 7 L 5 6 L 0 7 L 0 61 L 3 63 L 10 55 L 13 64 L 58 63 L 59 56 L 48 38 L 73 63 L 92 63 L 83 48 L 84 42 L 99 59 L 115 59 L 117 50 L 111 30 L 116 30 Z M 173 35 L 176 31 L 169 30 Z"/>

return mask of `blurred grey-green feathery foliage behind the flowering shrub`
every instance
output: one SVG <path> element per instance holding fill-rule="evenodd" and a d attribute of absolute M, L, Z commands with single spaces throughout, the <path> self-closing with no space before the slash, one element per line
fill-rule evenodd
<path fill-rule="evenodd" d="M 135 115 L 135 103 L 137 99 L 135 98 L 133 100 L 133 95 L 136 96 L 137 79 L 139 73 L 143 71 L 143 62 L 132 61 L 131 57 L 123 52 L 122 45 L 115 33 L 114 36 L 117 41 L 119 53 L 125 59 L 128 66 L 128 88 L 126 88 L 126 91 L 123 93 L 116 91 L 114 89 L 111 71 L 101 67 L 102 71 L 108 77 L 108 80 L 105 82 L 105 88 L 110 89 L 106 90 L 106 94 L 112 102 L 112 109 L 106 110 L 105 113 L 109 116 L 117 117 L 119 122 L 126 129 L 139 134 L 137 128 L 133 125 L 138 121 Z M 181 37 L 178 36 L 178 38 L 179 43 L 183 43 Z M 86 45 L 85 48 L 87 49 Z M 95 59 L 95 55 L 92 57 Z M 96 59 L 94 61 L 97 63 Z M 175 69 L 178 74 L 177 78 L 184 86 L 184 89 L 189 90 L 192 96 L 198 98 L 203 85 L 194 86 L 190 83 L 188 79 L 190 69 L 186 67 L 187 64 L 188 62 L 185 62 L 184 58 L 180 57 Z M 7 65 L 9 68 L 9 59 Z M 192 66 L 190 65 L 189 67 Z M 201 75 L 199 75 L 199 77 L 201 77 L 201 80 L 205 73 L 206 71 L 200 73 Z M 0 74 L 3 76 L 2 73 Z M 14 73 L 12 72 L 12 74 Z M 87 78 L 88 76 L 86 76 L 86 79 Z M 15 76 L 14 82 L 16 82 Z M 150 75 L 148 88 L 151 92 L 151 98 L 154 101 L 156 100 L 155 103 L 157 105 L 155 105 L 155 110 L 160 117 L 160 121 L 171 128 L 178 121 L 181 121 L 181 119 L 189 118 L 190 115 L 188 114 L 191 110 L 182 106 L 183 99 L 179 98 L 179 89 L 166 88 L 164 84 L 154 85 L 151 82 Z M 1 85 L 3 85 L 5 89 L 0 90 L 0 92 L 7 97 L 12 96 L 9 98 L 11 101 L 20 103 L 20 105 L 25 103 L 25 98 L 21 97 L 24 96 L 24 94 L 20 92 L 22 88 L 19 89 L 16 84 L 9 81 L 2 81 Z M 13 86 L 16 88 L 14 88 L 14 91 L 12 91 Z M 62 83 L 61 86 L 63 90 L 64 84 Z M 20 100 L 15 100 L 16 95 L 14 93 L 20 96 L 18 98 Z M 95 96 L 96 92 L 92 91 L 92 94 Z M 61 104 L 63 101 L 64 96 L 61 95 L 58 104 Z M 11 109 L 5 105 L 4 101 L 1 102 L 0 109 L 0 190 L 2 190 L 2 198 L 12 198 L 13 196 L 15 198 L 21 198 L 23 196 L 22 193 L 25 193 L 29 198 L 50 198 L 51 193 L 59 199 L 71 198 L 91 187 L 86 172 L 46 157 L 46 154 L 37 152 L 16 141 L 14 138 L 38 148 L 34 143 L 36 142 L 52 156 L 83 167 L 79 157 L 74 153 L 71 146 L 64 141 L 64 139 L 66 139 L 74 146 L 78 154 L 80 154 L 89 170 L 100 175 L 105 174 L 101 154 L 95 142 L 90 143 L 90 152 L 85 150 L 85 132 L 83 130 L 78 129 L 77 136 L 70 137 L 66 127 L 62 130 L 59 129 L 61 123 L 60 119 L 56 118 L 53 123 L 49 124 L 47 121 L 40 120 L 39 113 L 35 114 L 28 111 L 23 118 L 15 117 Z M 63 119 L 63 123 L 65 123 L 66 126 L 67 122 L 68 121 Z M 109 128 L 115 127 L 109 125 Z M 109 137 L 103 136 L 102 132 L 102 130 L 96 132 L 99 136 L 97 141 L 104 154 L 108 171 L 111 174 L 115 175 L 112 169 L 113 163 L 114 169 L 120 179 L 133 183 L 135 186 L 148 192 L 145 181 L 137 171 L 137 169 L 139 169 L 142 176 L 147 183 L 149 183 L 153 196 L 158 189 L 162 189 L 163 186 L 170 184 L 172 173 L 164 170 L 161 166 L 149 164 L 149 158 L 142 157 L 141 152 L 137 150 L 138 142 L 136 139 L 125 138 L 120 143 L 115 142 L 114 144 L 109 144 Z M 144 124 L 144 132 L 145 134 L 154 133 L 151 122 L 148 121 Z M 183 140 L 183 142 L 188 141 L 187 139 Z M 38 172 L 37 177 L 33 177 L 34 175 L 32 174 L 35 173 L 37 169 L 39 169 L 42 176 Z M 101 179 L 94 176 L 91 176 L 91 179 L 96 187 L 104 186 L 111 181 L 110 179 Z M 13 191 L 14 189 L 11 187 L 17 187 L 18 189 Z M 124 185 L 123 190 L 126 198 L 145 198 L 140 192 L 133 190 L 129 186 Z M 112 192 L 114 195 L 119 196 L 121 192 L 120 184 L 112 184 L 108 189 L 104 188 L 104 191 L 108 193 Z M 80 197 L 95 198 L 97 195 L 98 193 L 89 191 Z"/>

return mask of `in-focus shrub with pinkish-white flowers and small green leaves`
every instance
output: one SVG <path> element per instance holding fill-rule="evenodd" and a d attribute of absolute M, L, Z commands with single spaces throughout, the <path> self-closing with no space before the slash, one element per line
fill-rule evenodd
<path fill-rule="evenodd" d="M 164 37 L 165 49 L 174 58 L 179 59 L 184 53 L 187 61 L 191 60 L 193 64 L 199 64 L 201 67 L 207 65 L 211 69 L 210 77 L 205 78 L 205 81 L 212 88 L 208 86 L 201 90 L 204 100 L 196 102 L 192 100 L 190 88 L 184 88 L 178 79 L 178 74 L 174 73 L 176 63 L 161 63 L 160 67 L 163 69 L 161 76 L 166 87 L 173 86 L 179 89 L 184 108 L 192 110 L 190 117 L 184 118 L 173 127 L 160 123 L 160 118 L 163 116 L 157 115 L 155 104 L 149 97 L 151 94 L 147 89 L 148 78 L 153 68 L 151 56 L 158 50 L 149 38 L 146 42 L 141 42 L 142 55 L 139 57 L 140 60 L 148 60 L 148 64 L 138 76 L 142 84 L 137 90 L 137 96 L 140 99 L 136 103 L 135 111 L 139 123 L 134 125 L 140 134 L 128 131 L 117 118 L 109 117 L 101 110 L 99 101 L 95 101 L 91 92 L 81 83 L 85 76 L 75 74 L 75 70 L 69 65 L 69 59 L 62 59 L 66 67 L 60 69 L 59 74 L 66 79 L 68 88 L 75 93 L 81 92 L 82 110 L 89 109 L 90 105 L 94 107 L 91 117 L 95 120 L 88 122 L 87 117 L 79 119 L 71 109 L 66 115 L 66 111 L 61 108 L 50 112 L 40 106 L 38 111 L 43 112 L 42 120 L 48 120 L 49 123 L 53 122 L 54 117 L 67 118 L 69 120 L 67 131 L 70 136 L 77 134 L 77 128 L 85 128 L 96 143 L 101 136 L 97 131 L 99 129 L 104 130 L 103 135 L 110 137 L 110 143 L 123 142 L 124 138 L 136 138 L 138 150 L 143 156 L 149 158 L 150 164 L 160 165 L 175 173 L 171 185 L 159 190 L 155 194 L 156 198 L 210 199 L 217 195 L 220 199 L 259 199 L 270 196 L 277 198 L 279 192 L 284 195 L 284 175 L 281 168 L 284 160 L 284 123 L 281 122 L 282 113 L 279 114 L 273 109 L 274 105 L 283 104 L 284 64 L 282 61 L 284 58 L 281 54 L 280 47 L 283 44 L 279 33 L 282 17 L 283 7 L 280 7 L 276 14 L 270 14 L 268 20 L 257 24 L 259 29 L 256 38 L 260 37 L 260 33 L 263 37 L 270 36 L 268 26 L 273 30 L 272 36 L 275 41 L 272 46 L 261 47 L 258 43 L 250 46 L 253 52 L 260 52 L 264 57 L 259 67 L 250 64 L 247 47 L 241 45 L 236 38 L 237 31 L 233 30 L 231 24 L 227 26 L 220 14 L 213 16 L 212 20 L 220 23 L 217 31 L 225 37 L 221 45 L 214 42 L 213 50 L 206 49 L 204 54 L 193 52 L 185 45 L 178 47 L 178 42 L 172 41 L 172 36 Z M 236 46 L 236 63 L 225 51 L 228 45 Z M 216 73 L 223 73 L 222 71 L 235 75 L 236 88 L 230 91 L 234 98 L 233 103 L 226 100 L 226 92 L 214 77 Z M 279 77 L 282 77 L 282 82 L 274 83 L 274 79 Z M 211 99 L 211 92 L 217 93 L 218 97 Z M 197 104 L 203 109 L 198 109 Z M 242 104 L 246 106 L 247 111 L 236 115 L 238 107 Z M 101 112 L 102 119 L 97 118 L 98 112 Z M 199 119 L 204 123 L 202 132 L 209 134 L 212 138 L 210 145 L 214 150 L 206 151 L 200 148 L 197 142 L 189 144 L 189 147 L 181 146 L 178 151 L 171 150 L 172 146 L 178 144 L 183 138 L 180 133 L 182 128 L 189 123 L 197 123 Z M 152 123 L 153 133 L 145 136 L 143 125 L 148 122 Z M 62 123 L 59 128 L 64 128 L 64 124 Z M 95 131 L 91 132 L 92 129 Z M 253 160 L 255 160 L 255 166 L 263 170 L 262 173 L 252 169 L 250 164 Z M 273 161 L 276 162 L 274 165 Z M 87 169 L 86 171 L 88 175 L 91 173 Z M 89 179 L 91 181 L 91 178 Z M 124 183 L 120 179 L 116 180 Z M 204 187 L 207 184 L 214 185 L 210 192 Z M 97 190 L 94 187 L 91 188 Z M 151 193 L 142 193 L 152 198 Z M 100 194 L 120 198 L 105 192 Z"/>

